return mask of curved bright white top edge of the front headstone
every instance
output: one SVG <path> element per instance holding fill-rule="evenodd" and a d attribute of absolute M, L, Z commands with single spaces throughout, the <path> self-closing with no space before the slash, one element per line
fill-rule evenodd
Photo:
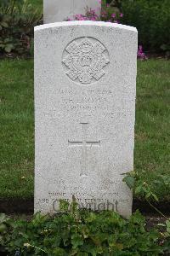
<path fill-rule="evenodd" d="M 34 32 L 54 28 L 54 27 L 61 27 L 61 26 L 103 26 L 103 27 L 114 27 L 119 29 L 124 29 L 132 32 L 138 32 L 136 27 L 134 26 L 127 26 L 117 23 L 105 22 L 105 21 L 92 21 L 92 20 L 73 20 L 73 21 L 62 21 L 62 22 L 54 22 L 48 23 L 40 26 L 34 27 Z"/>

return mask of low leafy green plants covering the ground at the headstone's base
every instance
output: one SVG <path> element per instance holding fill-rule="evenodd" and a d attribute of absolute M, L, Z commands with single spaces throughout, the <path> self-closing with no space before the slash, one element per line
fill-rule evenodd
<path fill-rule="evenodd" d="M 74 201 L 70 209 L 54 217 L 38 212 L 29 222 L 0 215 L 1 251 L 8 255 L 18 251 L 20 255 L 156 256 L 167 250 L 169 237 L 162 243 L 164 234 L 147 231 L 138 211 L 125 220 L 116 212 L 78 210 Z"/>

